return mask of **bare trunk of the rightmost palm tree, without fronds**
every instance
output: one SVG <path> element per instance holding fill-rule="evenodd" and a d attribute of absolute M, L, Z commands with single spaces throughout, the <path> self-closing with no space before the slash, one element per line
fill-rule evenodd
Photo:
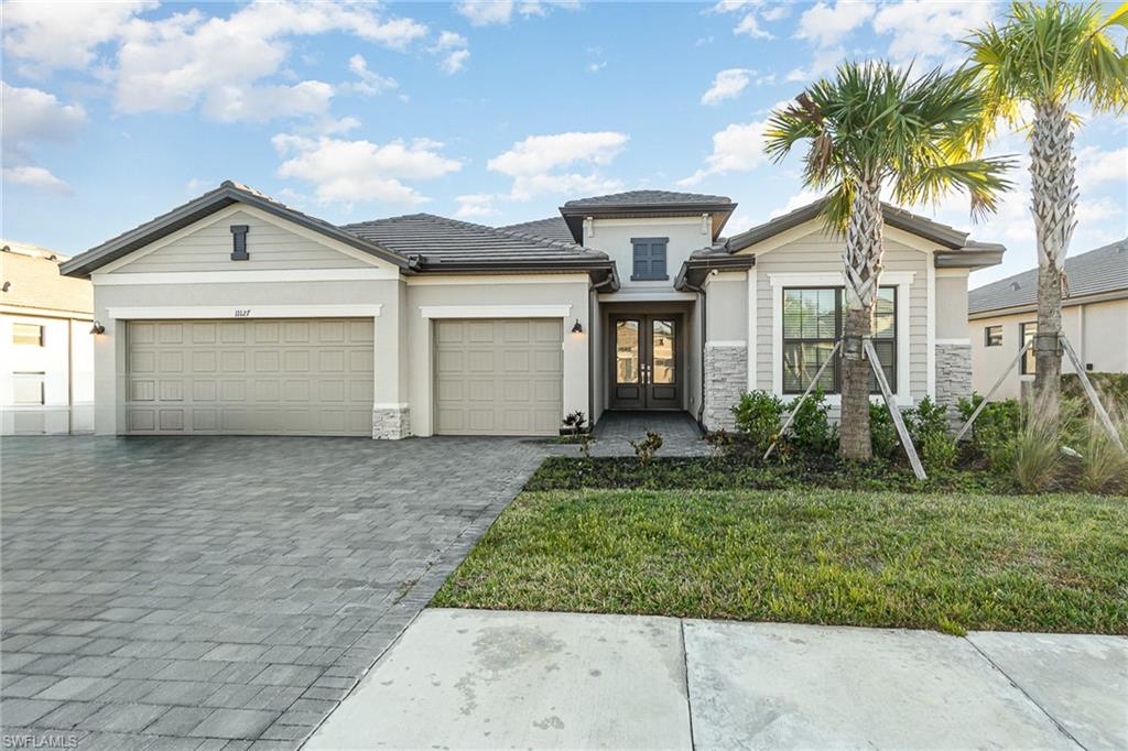
<path fill-rule="evenodd" d="M 1030 187 L 1038 238 L 1038 334 L 1034 339 L 1034 403 L 1057 425 L 1061 390 L 1063 267 L 1077 226 L 1076 158 L 1065 107 L 1039 105 L 1030 135 Z"/>

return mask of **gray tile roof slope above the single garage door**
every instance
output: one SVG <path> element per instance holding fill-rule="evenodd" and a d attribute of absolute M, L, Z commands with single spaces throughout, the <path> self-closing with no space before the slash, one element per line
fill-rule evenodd
<path fill-rule="evenodd" d="M 592 266 L 609 263 L 607 254 L 514 229 L 473 224 L 434 214 L 407 214 L 345 224 L 341 229 L 379 242 L 402 256 L 422 256 L 428 268 L 457 265 L 513 264 Z"/>

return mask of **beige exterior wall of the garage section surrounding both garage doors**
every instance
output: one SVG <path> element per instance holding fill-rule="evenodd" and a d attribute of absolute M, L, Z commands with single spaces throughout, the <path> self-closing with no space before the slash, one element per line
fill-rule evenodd
<path fill-rule="evenodd" d="M 129 320 L 364 317 L 373 332 L 371 409 L 409 414 L 409 433 L 431 435 L 434 318 L 424 316 L 458 308 L 457 316 L 437 315 L 529 318 L 547 304 L 562 330 L 559 417 L 590 410 L 585 273 L 404 277 L 384 260 L 261 213 L 231 206 L 94 275 L 95 317 L 106 327 L 94 337 L 98 433 L 129 431 Z M 249 260 L 230 260 L 235 223 L 252 227 Z M 570 333 L 576 319 L 584 334 Z"/>

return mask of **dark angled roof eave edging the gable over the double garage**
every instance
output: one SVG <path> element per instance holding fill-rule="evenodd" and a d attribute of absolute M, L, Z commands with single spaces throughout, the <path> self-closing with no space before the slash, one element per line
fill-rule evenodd
<path fill-rule="evenodd" d="M 74 256 L 64 264 L 61 264 L 59 272 L 64 276 L 89 277 L 90 272 L 236 203 L 244 203 L 294 222 L 306 229 L 354 247 L 358 250 L 363 250 L 364 253 L 382 258 L 400 268 L 406 268 L 407 266 L 406 258 L 381 245 L 363 240 L 355 235 L 329 224 L 311 221 L 305 214 L 280 206 L 253 193 L 241 191 L 233 185 L 223 184 L 219 188 L 205 193 L 199 198 L 190 201 L 162 217 L 158 217 L 112 240 L 95 246 L 86 253 Z"/>

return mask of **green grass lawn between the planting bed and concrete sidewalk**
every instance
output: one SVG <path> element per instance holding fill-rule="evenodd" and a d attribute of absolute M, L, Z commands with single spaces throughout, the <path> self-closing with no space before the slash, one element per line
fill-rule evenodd
<path fill-rule="evenodd" d="M 1126 529 L 1093 495 L 535 492 L 433 604 L 1128 634 Z"/>

